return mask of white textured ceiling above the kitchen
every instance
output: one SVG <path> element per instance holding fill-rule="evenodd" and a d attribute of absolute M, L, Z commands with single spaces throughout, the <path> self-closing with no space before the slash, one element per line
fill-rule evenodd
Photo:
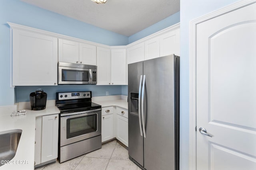
<path fill-rule="evenodd" d="M 180 11 L 180 0 L 21 0 L 125 36 Z"/>

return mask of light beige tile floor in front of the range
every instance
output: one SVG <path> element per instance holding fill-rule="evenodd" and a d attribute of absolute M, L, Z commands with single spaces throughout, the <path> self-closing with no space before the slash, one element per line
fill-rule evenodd
<path fill-rule="evenodd" d="M 54 162 L 35 170 L 140 170 L 129 160 L 128 150 L 116 140 L 102 148 L 63 163 Z"/>

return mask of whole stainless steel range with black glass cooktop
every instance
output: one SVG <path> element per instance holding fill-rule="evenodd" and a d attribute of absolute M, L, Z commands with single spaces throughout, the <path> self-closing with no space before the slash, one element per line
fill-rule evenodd
<path fill-rule="evenodd" d="M 101 106 L 92 92 L 58 92 L 60 163 L 101 148 Z"/>

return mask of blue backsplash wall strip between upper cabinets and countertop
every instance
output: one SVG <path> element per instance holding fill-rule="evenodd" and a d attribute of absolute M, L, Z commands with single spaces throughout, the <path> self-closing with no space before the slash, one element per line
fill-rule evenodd
<path fill-rule="evenodd" d="M 36 89 L 42 88 L 47 93 L 47 100 L 56 100 L 56 92 L 81 92 L 92 91 L 94 96 L 120 95 L 122 94 L 122 86 L 97 86 L 97 85 L 58 85 L 58 86 L 16 86 L 16 103 L 29 102 L 29 95 Z M 125 94 L 124 94 L 125 95 Z"/>

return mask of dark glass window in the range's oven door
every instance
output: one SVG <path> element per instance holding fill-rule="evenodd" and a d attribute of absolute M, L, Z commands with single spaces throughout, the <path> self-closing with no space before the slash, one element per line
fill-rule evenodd
<path fill-rule="evenodd" d="M 97 114 L 67 119 L 67 139 L 97 131 Z"/>

